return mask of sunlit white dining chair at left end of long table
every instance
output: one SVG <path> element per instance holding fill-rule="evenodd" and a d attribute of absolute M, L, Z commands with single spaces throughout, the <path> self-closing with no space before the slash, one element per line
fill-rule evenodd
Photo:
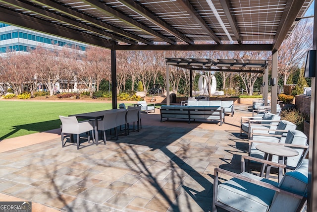
<path fill-rule="evenodd" d="M 72 135 L 77 135 L 77 149 L 79 149 L 79 138 L 80 134 L 90 132 L 92 133 L 92 141 L 94 142 L 94 124 L 91 121 L 78 122 L 75 116 L 59 116 L 61 121 L 61 144 L 62 147 L 65 146 L 64 134 L 69 134 L 69 139 L 71 140 Z M 90 141 L 90 134 L 88 134 L 88 141 Z"/>

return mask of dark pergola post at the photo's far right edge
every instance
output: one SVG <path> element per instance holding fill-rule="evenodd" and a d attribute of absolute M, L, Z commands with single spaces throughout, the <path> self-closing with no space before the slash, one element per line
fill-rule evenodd
<path fill-rule="evenodd" d="M 315 1 L 314 9 L 314 33 L 313 33 L 313 50 L 317 49 L 317 3 Z M 316 56 L 317 57 L 317 56 Z M 317 59 L 317 58 L 316 58 Z M 316 61 L 315 59 L 315 61 Z M 317 76 L 317 63 L 315 64 L 315 76 Z M 315 120 L 317 119 L 317 80 L 316 77 L 312 77 L 312 96 L 311 96 L 311 114 L 310 114 L 310 132 L 309 132 L 309 167 L 308 167 L 308 200 L 307 200 L 307 212 L 317 211 L 317 126 Z"/>

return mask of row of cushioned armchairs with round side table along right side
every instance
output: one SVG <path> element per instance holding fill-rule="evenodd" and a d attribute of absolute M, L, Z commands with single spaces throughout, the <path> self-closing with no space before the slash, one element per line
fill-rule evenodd
<path fill-rule="evenodd" d="M 240 174 L 214 169 L 212 211 L 302 211 L 308 192 L 306 135 L 296 130 L 295 124 L 271 113 L 262 118 L 241 117 L 242 133 L 248 137 L 249 155 L 242 155 Z M 261 164 L 258 176 L 245 171 L 246 161 Z M 269 179 L 271 167 L 278 169 L 278 182 Z M 219 184 L 220 174 L 232 178 Z"/>

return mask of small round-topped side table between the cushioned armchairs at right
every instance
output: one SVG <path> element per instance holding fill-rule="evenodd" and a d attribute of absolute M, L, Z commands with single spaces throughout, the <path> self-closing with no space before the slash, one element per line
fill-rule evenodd
<path fill-rule="evenodd" d="M 282 146 L 282 145 L 258 144 L 256 148 L 264 152 L 264 159 L 266 160 L 272 161 L 272 156 L 277 155 L 278 163 L 280 164 L 285 164 L 285 160 L 287 157 L 298 155 L 298 151 L 296 151 L 295 149 L 292 149 L 287 146 Z M 270 165 L 266 166 L 265 178 L 267 179 L 270 172 L 270 168 L 271 168 Z M 265 169 L 265 166 L 263 164 L 261 169 L 261 174 L 260 174 L 261 176 L 263 176 L 264 174 L 264 169 Z M 278 168 L 278 182 L 281 181 L 282 177 L 283 177 L 283 169 L 279 167 Z"/>

